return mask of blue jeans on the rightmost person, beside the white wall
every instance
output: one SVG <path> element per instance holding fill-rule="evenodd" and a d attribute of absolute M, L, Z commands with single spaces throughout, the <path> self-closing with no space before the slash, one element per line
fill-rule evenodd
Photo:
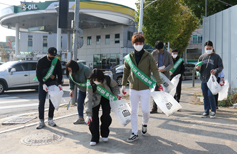
<path fill-rule="evenodd" d="M 207 83 L 201 84 L 202 94 L 204 97 L 204 110 L 205 113 L 209 114 L 209 109 L 216 113 L 216 100 L 215 96 L 211 93 L 210 89 L 207 87 Z"/>

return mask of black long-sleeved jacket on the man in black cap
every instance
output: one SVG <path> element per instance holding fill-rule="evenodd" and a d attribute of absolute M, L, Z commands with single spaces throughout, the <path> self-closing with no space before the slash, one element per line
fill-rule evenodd
<path fill-rule="evenodd" d="M 40 82 L 40 84 L 44 84 L 44 83 L 49 83 L 49 82 L 56 82 L 58 84 L 62 84 L 62 66 L 61 66 L 61 62 L 60 60 L 57 61 L 56 67 L 53 71 L 53 75 L 55 76 L 54 79 L 49 78 L 46 82 L 43 81 L 43 77 L 45 77 L 45 75 L 47 74 L 50 66 L 51 66 L 51 62 L 49 61 L 47 56 L 42 57 L 41 59 L 39 59 L 38 63 L 37 63 L 37 67 L 36 67 L 36 76 L 38 81 Z M 57 78 L 57 80 L 56 80 Z"/>

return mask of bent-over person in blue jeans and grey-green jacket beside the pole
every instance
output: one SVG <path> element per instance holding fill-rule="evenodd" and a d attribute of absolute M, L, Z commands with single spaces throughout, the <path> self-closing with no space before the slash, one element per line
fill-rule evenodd
<path fill-rule="evenodd" d="M 91 69 L 81 62 L 70 60 L 66 64 L 66 75 L 69 78 L 70 96 L 74 94 L 75 85 L 79 88 L 77 98 L 77 112 L 79 118 L 73 124 L 84 124 L 84 101 L 86 98 L 86 81 L 91 73 Z"/>

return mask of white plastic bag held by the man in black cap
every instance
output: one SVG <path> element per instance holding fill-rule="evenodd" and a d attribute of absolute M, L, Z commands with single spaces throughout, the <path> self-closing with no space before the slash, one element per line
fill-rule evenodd
<path fill-rule="evenodd" d="M 56 85 L 52 85 L 48 87 L 48 94 L 54 108 L 58 110 L 61 101 L 64 100 L 63 90 L 60 90 Z"/>

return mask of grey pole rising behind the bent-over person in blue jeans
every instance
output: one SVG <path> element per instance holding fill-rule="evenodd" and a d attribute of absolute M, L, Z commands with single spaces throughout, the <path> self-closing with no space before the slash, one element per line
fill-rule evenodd
<path fill-rule="evenodd" d="M 74 22 L 73 22 L 73 32 L 74 32 L 74 48 L 73 48 L 73 60 L 77 61 L 77 49 L 78 49 L 78 37 L 79 37 L 79 9 L 80 9 L 80 0 L 75 0 L 75 9 L 74 9 Z M 74 86 L 74 94 L 72 97 L 72 104 L 75 105 L 77 100 L 77 86 Z"/>

